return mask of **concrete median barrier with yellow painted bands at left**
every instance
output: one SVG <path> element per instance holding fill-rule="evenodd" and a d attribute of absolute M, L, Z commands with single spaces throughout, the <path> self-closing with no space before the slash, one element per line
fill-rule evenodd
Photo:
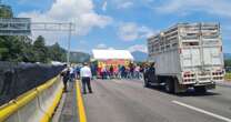
<path fill-rule="evenodd" d="M 49 122 L 62 91 L 61 78 L 56 77 L 0 106 L 0 122 Z"/>

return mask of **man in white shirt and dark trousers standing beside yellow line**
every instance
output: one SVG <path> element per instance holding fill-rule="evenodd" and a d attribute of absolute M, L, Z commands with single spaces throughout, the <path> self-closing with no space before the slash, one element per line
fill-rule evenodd
<path fill-rule="evenodd" d="M 80 78 L 82 81 L 83 94 L 86 94 L 86 85 L 88 87 L 89 93 L 92 93 L 91 89 L 91 69 L 88 67 L 88 63 L 83 63 L 83 68 L 80 69 Z"/>

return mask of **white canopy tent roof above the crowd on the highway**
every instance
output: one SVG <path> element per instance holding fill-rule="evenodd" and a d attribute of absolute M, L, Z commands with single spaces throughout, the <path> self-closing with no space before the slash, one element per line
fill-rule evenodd
<path fill-rule="evenodd" d="M 92 50 L 94 60 L 110 60 L 110 59 L 123 59 L 133 61 L 132 54 L 128 50 Z"/>

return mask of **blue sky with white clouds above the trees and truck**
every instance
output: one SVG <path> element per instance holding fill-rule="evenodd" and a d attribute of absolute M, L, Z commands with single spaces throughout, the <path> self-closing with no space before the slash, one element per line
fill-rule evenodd
<path fill-rule="evenodd" d="M 231 53 L 231 0 L 3 0 L 17 17 L 34 22 L 74 22 L 71 50 L 147 51 L 147 37 L 178 22 L 220 22 L 224 52 Z M 67 33 L 42 34 L 67 48 Z"/>

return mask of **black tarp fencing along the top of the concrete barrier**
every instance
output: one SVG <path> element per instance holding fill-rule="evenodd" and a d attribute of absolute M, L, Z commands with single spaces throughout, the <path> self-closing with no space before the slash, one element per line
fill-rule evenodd
<path fill-rule="evenodd" d="M 63 65 L 0 62 L 0 105 L 58 75 Z"/>

